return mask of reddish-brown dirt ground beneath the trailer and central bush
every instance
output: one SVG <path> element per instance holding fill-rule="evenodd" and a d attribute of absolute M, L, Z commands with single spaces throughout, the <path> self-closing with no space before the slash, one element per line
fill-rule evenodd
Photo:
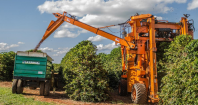
<path fill-rule="evenodd" d="M 0 82 L 0 87 L 12 87 L 12 82 Z M 131 105 L 130 95 L 128 96 L 118 96 L 117 92 L 110 92 L 110 99 L 101 102 L 101 103 L 91 103 L 91 102 L 81 102 L 73 101 L 65 95 L 65 91 L 50 91 L 49 96 L 39 96 L 39 88 L 36 90 L 30 90 L 28 87 L 25 87 L 23 90 L 23 95 L 27 98 L 34 98 L 38 101 L 44 102 L 53 102 L 55 104 L 66 104 L 66 105 L 114 105 L 114 104 L 123 104 Z"/>

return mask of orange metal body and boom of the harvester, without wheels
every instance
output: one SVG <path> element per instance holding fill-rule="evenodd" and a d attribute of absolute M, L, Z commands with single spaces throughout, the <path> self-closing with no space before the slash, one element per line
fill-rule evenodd
<path fill-rule="evenodd" d="M 151 14 L 141 14 L 132 16 L 128 24 L 131 26 L 131 32 L 129 32 L 124 38 L 117 37 L 110 33 L 100 30 L 99 28 L 92 27 L 85 23 L 82 23 L 75 18 L 66 16 L 66 12 L 63 14 L 53 13 L 56 18 L 55 22 L 51 21 L 49 24 L 42 40 L 37 45 L 35 50 L 38 49 L 40 44 L 49 35 L 54 32 L 64 21 L 86 29 L 97 35 L 101 35 L 107 39 L 115 41 L 121 44 L 122 53 L 122 78 L 127 78 L 127 91 L 132 92 L 132 87 L 135 83 L 145 84 L 148 93 L 148 101 L 157 103 L 158 97 L 158 82 L 157 82 L 157 58 L 156 58 L 156 42 L 157 41 L 172 41 L 173 37 L 169 35 L 177 35 L 175 32 L 180 34 L 192 34 L 193 31 L 188 29 L 187 18 L 182 17 L 179 23 L 170 23 L 168 21 L 156 22 L 155 17 Z M 113 26 L 113 25 L 110 25 Z M 110 27 L 106 26 L 106 27 Z M 105 28 L 105 27 L 101 27 Z M 166 38 L 157 37 L 160 33 L 166 33 L 166 30 L 172 33 L 168 34 Z M 165 31 L 163 31 L 165 30 Z M 159 32 L 159 33 L 158 33 Z M 134 91 L 132 95 L 135 95 Z"/>

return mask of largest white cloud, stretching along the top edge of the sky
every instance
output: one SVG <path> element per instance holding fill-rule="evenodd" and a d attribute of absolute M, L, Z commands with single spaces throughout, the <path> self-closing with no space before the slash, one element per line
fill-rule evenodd
<path fill-rule="evenodd" d="M 80 21 L 93 26 L 125 22 L 135 13 L 167 13 L 173 10 L 168 4 L 186 3 L 187 0 L 58 0 L 45 1 L 38 6 L 41 13 L 62 13 L 81 17 Z"/>

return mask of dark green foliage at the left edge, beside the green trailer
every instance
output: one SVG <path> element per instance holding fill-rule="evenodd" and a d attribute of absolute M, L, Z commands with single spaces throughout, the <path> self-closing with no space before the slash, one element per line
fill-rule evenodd
<path fill-rule="evenodd" d="M 12 73 L 14 70 L 15 52 L 2 52 L 0 53 L 0 80 L 12 80 Z"/>

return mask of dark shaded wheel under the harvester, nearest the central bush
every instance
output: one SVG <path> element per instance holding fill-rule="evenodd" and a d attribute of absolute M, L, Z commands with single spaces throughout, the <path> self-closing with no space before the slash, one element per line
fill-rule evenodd
<path fill-rule="evenodd" d="M 118 94 L 120 96 L 125 96 L 127 95 L 127 80 L 120 80 L 119 85 L 118 85 Z"/>

